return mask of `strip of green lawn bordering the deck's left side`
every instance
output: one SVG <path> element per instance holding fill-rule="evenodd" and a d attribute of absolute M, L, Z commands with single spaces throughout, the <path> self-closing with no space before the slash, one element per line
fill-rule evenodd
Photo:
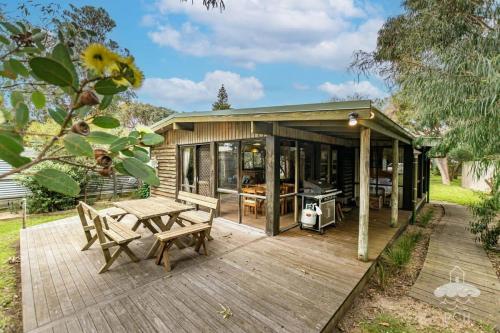
<path fill-rule="evenodd" d="M 95 205 L 97 209 L 109 207 L 109 203 Z M 28 215 L 26 226 L 32 227 L 66 217 L 76 215 L 76 210 L 59 213 Z M 13 314 L 12 308 L 16 297 L 21 297 L 16 283 L 16 266 L 9 264 L 9 259 L 15 257 L 19 231 L 22 219 L 8 219 L 0 221 L 0 332 L 11 332 L 21 329 L 18 318 Z"/>

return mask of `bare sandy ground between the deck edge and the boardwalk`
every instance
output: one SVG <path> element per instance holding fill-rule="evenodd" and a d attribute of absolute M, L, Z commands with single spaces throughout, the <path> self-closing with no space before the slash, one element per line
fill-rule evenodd
<path fill-rule="evenodd" d="M 364 332 L 361 323 L 373 321 L 379 314 L 386 314 L 405 321 L 418 332 L 490 332 L 478 324 L 463 319 L 447 320 L 447 313 L 408 296 L 408 291 L 418 277 L 429 244 L 429 235 L 443 216 L 440 205 L 429 204 L 424 210 L 433 209 L 434 215 L 426 228 L 408 226 L 407 232 L 420 230 L 422 239 L 415 247 L 412 259 L 402 271 L 386 272 L 388 275 L 384 288 L 379 275 L 375 273 L 364 291 L 354 301 L 353 306 L 340 321 L 340 332 Z M 390 331 L 392 332 L 392 331 Z"/>

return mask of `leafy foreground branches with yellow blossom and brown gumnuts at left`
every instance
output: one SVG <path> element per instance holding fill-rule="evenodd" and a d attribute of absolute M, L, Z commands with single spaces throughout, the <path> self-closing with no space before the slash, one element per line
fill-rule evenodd
<path fill-rule="evenodd" d="M 145 128 L 124 136 L 107 131 L 120 126 L 105 114 L 114 96 L 143 82 L 133 57 L 99 43 L 76 47 L 75 40 L 94 32 L 71 22 L 56 27 L 48 30 L 28 20 L 0 22 L 0 159 L 13 167 L 0 178 L 30 173 L 31 167 L 53 161 L 159 185 L 144 147 L 163 142 L 163 137 Z M 40 113 L 48 113 L 57 124 L 53 132 L 28 132 Z M 30 135 L 47 136 L 33 158 L 23 154 Z M 33 177 L 52 191 L 70 196 L 80 192 L 71 177 L 56 169 L 43 168 Z"/>

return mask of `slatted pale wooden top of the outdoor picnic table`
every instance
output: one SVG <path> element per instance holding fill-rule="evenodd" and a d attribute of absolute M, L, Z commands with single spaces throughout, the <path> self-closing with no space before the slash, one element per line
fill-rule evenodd
<path fill-rule="evenodd" d="M 182 213 L 193 209 L 192 206 L 161 197 L 118 201 L 114 202 L 113 205 L 135 215 L 140 220 Z"/>

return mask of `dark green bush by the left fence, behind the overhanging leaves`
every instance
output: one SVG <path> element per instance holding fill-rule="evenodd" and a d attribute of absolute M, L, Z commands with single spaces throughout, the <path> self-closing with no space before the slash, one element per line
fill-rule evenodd
<path fill-rule="evenodd" d="M 35 173 L 38 170 L 49 167 L 69 175 L 80 185 L 80 188 L 85 186 L 85 182 L 87 181 L 86 170 L 82 168 L 54 162 L 44 162 L 34 166 L 31 171 Z M 31 192 L 27 200 L 28 211 L 30 213 L 55 212 L 71 209 L 76 206 L 78 197 L 69 197 L 58 192 L 49 191 L 47 188 L 39 185 L 31 175 L 21 175 L 18 177 L 18 180 Z"/>

